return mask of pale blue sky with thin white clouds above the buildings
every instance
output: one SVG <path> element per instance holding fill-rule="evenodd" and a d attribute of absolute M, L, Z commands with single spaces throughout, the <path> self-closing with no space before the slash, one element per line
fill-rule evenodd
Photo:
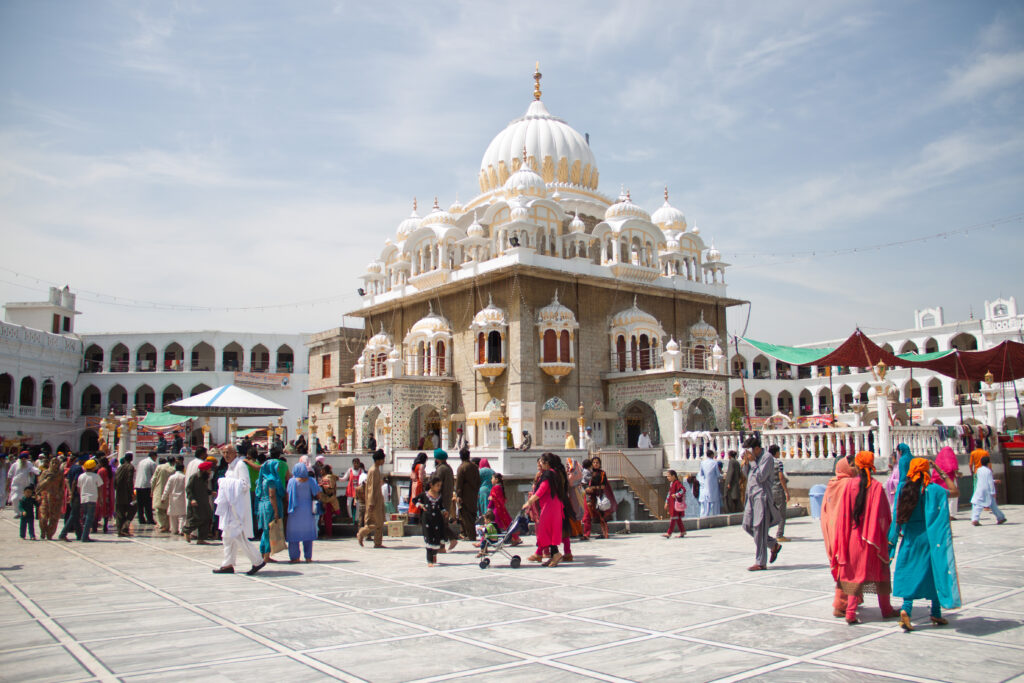
<path fill-rule="evenodd" d="M 601 190 L 668 185 L 733 264 L 730 333 L 1024 305 L 1024 6 L 784 0 L 7 0 L 0 301 L 70 285 L 83 333 L 354 325 L 413 198 L 477 194 L 538 60 Z"/>

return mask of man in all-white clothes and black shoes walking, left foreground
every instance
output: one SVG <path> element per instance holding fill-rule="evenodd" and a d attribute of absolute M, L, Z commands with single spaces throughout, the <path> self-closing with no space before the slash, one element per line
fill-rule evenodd
<path fill-rule="evenodd" d="M 227 472 L 217 489 L 217 517 L 220 520 L 221 540 L 224 544 L 224 561 L 214 573 L 234 573 L 234 560 L 242 550 L 252 563 L 246 573 L 252 575 L 266 563 L 259 550 L 249 541 L 253 529 L 253 509 L 249 500 L 249 465 L 238 457 L 233 446 L 224 450 Z"/>

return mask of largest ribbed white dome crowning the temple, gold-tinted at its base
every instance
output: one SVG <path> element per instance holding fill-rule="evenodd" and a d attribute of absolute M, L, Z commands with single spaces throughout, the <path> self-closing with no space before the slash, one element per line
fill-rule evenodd
<path fill-rule="evenodd" d="M 480 191 L 503 184 L 519 163 L 524 146 L 529 151 L 530 166 L 545 182 L 597 189 L 597 161 L 587 139 L 536 99 L 525 115 L 490 140 L 480 162 Z"/>

